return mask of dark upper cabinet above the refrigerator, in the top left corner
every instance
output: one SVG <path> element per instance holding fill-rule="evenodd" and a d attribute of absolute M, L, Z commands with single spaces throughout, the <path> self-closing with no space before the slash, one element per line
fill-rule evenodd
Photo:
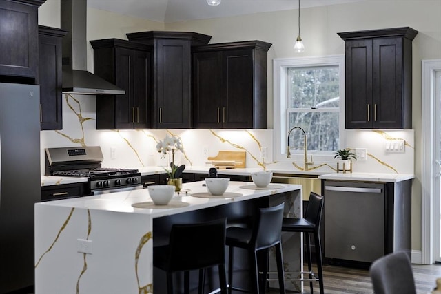
<path fill-rule="evenodd" d="M 36 83 L 38 8 L 45 0 L 0 1 L 0 81 Z"/>

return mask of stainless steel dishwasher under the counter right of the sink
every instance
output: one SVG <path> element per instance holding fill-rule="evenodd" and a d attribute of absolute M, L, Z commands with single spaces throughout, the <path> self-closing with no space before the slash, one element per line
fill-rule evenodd
<path fill-rule="evenodd" d="M 325 258 L 373 262 L 385 253 L 384 184 L 324 182 Z"/>

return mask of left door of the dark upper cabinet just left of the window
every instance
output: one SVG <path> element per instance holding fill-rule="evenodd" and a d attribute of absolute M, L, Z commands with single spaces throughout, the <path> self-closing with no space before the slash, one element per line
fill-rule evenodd
<path fill-rule="evenodd" d="M 222 53 L 193 54 L 193 127 L 220 129 L 223 124 Z"/>

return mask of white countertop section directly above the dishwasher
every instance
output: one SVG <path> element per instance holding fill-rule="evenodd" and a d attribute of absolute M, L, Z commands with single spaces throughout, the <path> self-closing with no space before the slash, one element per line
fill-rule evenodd
<path fill-rule="evenodd" d="M 402 182 L 415 178 L 413 174 L 334 173 L 318 176 L 322 180 L 351 180 L 363 182 Z"/>

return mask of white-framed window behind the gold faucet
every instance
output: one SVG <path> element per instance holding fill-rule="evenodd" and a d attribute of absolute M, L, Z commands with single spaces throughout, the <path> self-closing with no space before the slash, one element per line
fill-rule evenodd
<path fill-rule="evenodd" d="M 274 157 L 286 158 L 287 134 L 302 127 L 308 153 L 333 154 L 343 144 L 344 56 L 274 60 Z M 289 146 L 302 147 L 301 132 L 292 132 Z M 297 150 L 297 151 L 296 151 Z M 302 153 L 292 148 L 291 153 Z"/>

